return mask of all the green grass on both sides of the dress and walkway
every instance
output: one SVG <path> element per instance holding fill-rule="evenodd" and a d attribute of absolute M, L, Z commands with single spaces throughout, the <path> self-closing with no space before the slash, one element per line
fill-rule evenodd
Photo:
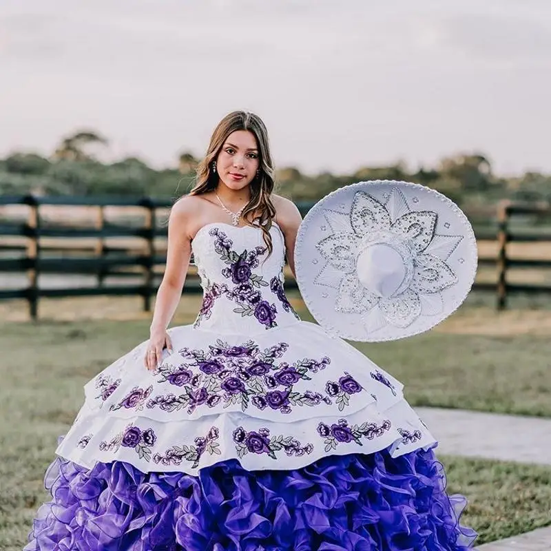
<path fill-rule="evenodd" d="M 189 322 L 187 314 L 185 322 Z M 178 320 L 182 322 L 182 320 Z M 21 550 L 56 438 L 83 400 L 82 386 L 147 338 L 149 320 L 0 325 L 0 549 Z M 428 333 L 362 344 L 406 384 L 412 404 L 551 416 L 551 340 L 545 335 Z M 478 543 L 551 523 L 551 469 L 445 457 L 450 492 L 469 499 Z"/>

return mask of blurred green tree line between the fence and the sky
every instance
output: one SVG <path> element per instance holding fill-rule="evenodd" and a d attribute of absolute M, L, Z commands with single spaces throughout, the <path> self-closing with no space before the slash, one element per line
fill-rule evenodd
<path fill-rule="evenodd" d="M 52 155 L 14 152 L 0 159 L 0 194 L 113 195 L 176 198 L 194 183 L 198 158 L 189 151 L 175 159 L 174 167 L 156 170 L 136 157 L 102 163 L 94 154 L 109 147 L 100 134 L 83 130 L 61 140 Z M 503 198 L 551 201 L 551 175 L 526 172 L 504 178 L 492 171 L 490 160 L 479 152 L 456 154 L 434 167 L 411 170 L 404 163 L 366 166 L 350 174 L 304 174 L 296 167 L 277 171 L 278 191 L 295 201 L 315 201 L 338 187 L 360 180 L 408 180 L 442 191 L 462 207 L 488 209 Z"/>

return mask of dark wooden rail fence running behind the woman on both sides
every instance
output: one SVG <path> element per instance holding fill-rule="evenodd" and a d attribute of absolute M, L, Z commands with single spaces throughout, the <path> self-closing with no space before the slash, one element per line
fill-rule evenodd
<path fill-rule="evenodd" d="M 11 209 L 17 205 L 26 211 L 24 216 L 21 213 L 17 220 L 1 216 L 1 209 Z M 95 212 L 93 223 L 90 223 L 90 217 L 87 224 L 81 220 L 69 220 L 68 213 L 77 207 L 92 209 Z M 0 289 L 0 300 L 27 300 L 32 319 L 38 316 L 41 297 L 140 295 L 144 309 L 149 311 L 166 261 L 169 207 L 171 201 L 152 198 L 0 196 L 0 274 L 26 272 L 28 275 L 25 287 Z M 310 204 L 299 205 L 303 216 L 310 207 Z M 52 208 L 57 209 L 53 219 Z M 118 209 L 119 214 L 116 222 L 106 216 L 106 209 L 114 208 Z M 48 209 L 50 216 L 43 216 Z M 129 216 L 121 215 L 125 211 L 130 211 Z M 160 214 L 162 211 L 165 213 Z M 512 260 L 508 256 L 508 246 L 512 241 L 551 242 L 551 234 L 523 232 L 522 235 L 514 235 L 510 231 L 510 219 L 517 214 L 541 216 L 551 214 L 551 209 L 548 205 L 503 203 L 499 207 L 497 229 L 475 232 L 478 239 L 497 239 L 499 242 L 497 258 L 486 256 L 479 259 L 481 267 L 497 268 L 497 284 L 475 284 L 475 289 L 497 291 L 499 309 L 506 307 L 510 292 L 551 291 L 551 287 L 508 283 L 507 271 L 510 267 L 551 267 L 551 260 Z M 121 219 L 127 222 L 121 222 Z M 112 244 L 110 240 L 116 242 Z M 96 286 L 41 288 L 41 274 L 94 275 Z M 107 277 L 127 278 L 127 281 L 133 279 L 134 283 L 106 285 Z M 140 280 L 138 283 L 136 278 Z M 289 278 L 286 287 L 296 287 L 296 282 Z M 189 271 L 183 291 L 201 291 L 193 268 Z"/>

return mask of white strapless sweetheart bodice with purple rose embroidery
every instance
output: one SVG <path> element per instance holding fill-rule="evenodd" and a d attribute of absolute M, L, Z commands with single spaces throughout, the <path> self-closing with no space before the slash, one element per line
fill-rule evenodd
<path fill-rule="evenodd" d="M 282 231 L 270 230 L 269 255 L 262 231 L 221 222 L 203 226 L 192 249 L 203 301 L 194 327 L 220 333 L 258 333 L 300 320 L 285 296 Z"/>

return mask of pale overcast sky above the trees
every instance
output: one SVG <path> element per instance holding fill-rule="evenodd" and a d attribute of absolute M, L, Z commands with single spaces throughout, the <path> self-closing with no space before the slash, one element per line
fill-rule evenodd
<path fill-rule="evenodd" d="M 0 0 L 0 156 L 83 127 L 174 165 L 253 110 L 278 166 L 551 171 L 550 0 Z"/>

